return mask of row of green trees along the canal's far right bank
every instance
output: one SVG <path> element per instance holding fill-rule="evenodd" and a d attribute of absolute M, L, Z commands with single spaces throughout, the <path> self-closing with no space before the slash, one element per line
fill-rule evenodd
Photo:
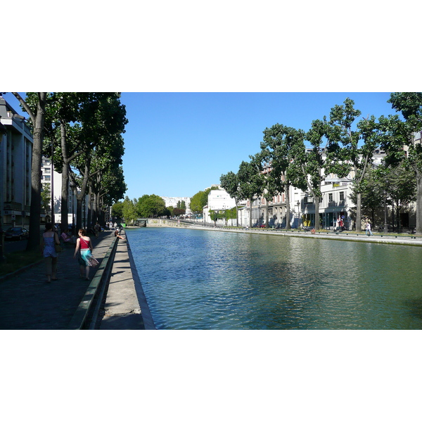
<path fill-rule="evenodd" d="M 357 227 L 362 210 L 384 207 L 386 198 L 396 206 L 396 213 L 397 207 L 416 200 L 416 233 L 422 235 L 422 146 L 414 137 L 414 132 L 422 130 L 422 93 L 392 93 L 388 103 L 401 117 L 382 115 L 376 119 L 371 115 L 357 120 L 361 112 L 346 98 L 343 105 L 331 108 L 329 118 L 314 120 L 307 132 L 274 124 L 264 130 L 261 151 L 250 155 L 250 162 L 241 162 L 236 174 L 222 175 L 222 187 L 236 204 L 250 200 L 251 208 L 255 198 L 263 196 L 268 204 L 277 194 L 285 193 L 286 214 L 290 215 L 289 187 L 295 186 L 310 193 L 318 216 L 325 175 L 351 177 Z M 376 148 L 386 155 L 382 165 L 373 170 Z M 286 224 L 290 229 L 289 219 Z M 319 218 L 315 229 L 319 229 Z"/>

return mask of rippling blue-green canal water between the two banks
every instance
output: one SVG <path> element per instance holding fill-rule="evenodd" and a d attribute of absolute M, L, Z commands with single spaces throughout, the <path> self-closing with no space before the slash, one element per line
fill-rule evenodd
<path fill-rule="evenodd" d="M 422 248 L 127 229 L 158 329 L 422 328 Z"/>

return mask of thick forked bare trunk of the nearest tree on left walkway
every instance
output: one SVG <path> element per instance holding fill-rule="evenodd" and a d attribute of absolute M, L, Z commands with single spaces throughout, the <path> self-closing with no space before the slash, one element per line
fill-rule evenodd
<path fill-rule="evenodd" d="M 32 168 L 31 168 L 31 207 L 30 207 L 30 236 L 27 242 L 27 250 L 39 248 L 39 220 L 41 218 L 41 161 L 42 144 L 44 141 L 44 120 L 46 109 L 46 92 L 37 93 L 37 104 L 30 107 L 17 93 L 12 93 L 23 110 L 25 110 L 32 122 L 34 144 L 32 146 Z"/>

